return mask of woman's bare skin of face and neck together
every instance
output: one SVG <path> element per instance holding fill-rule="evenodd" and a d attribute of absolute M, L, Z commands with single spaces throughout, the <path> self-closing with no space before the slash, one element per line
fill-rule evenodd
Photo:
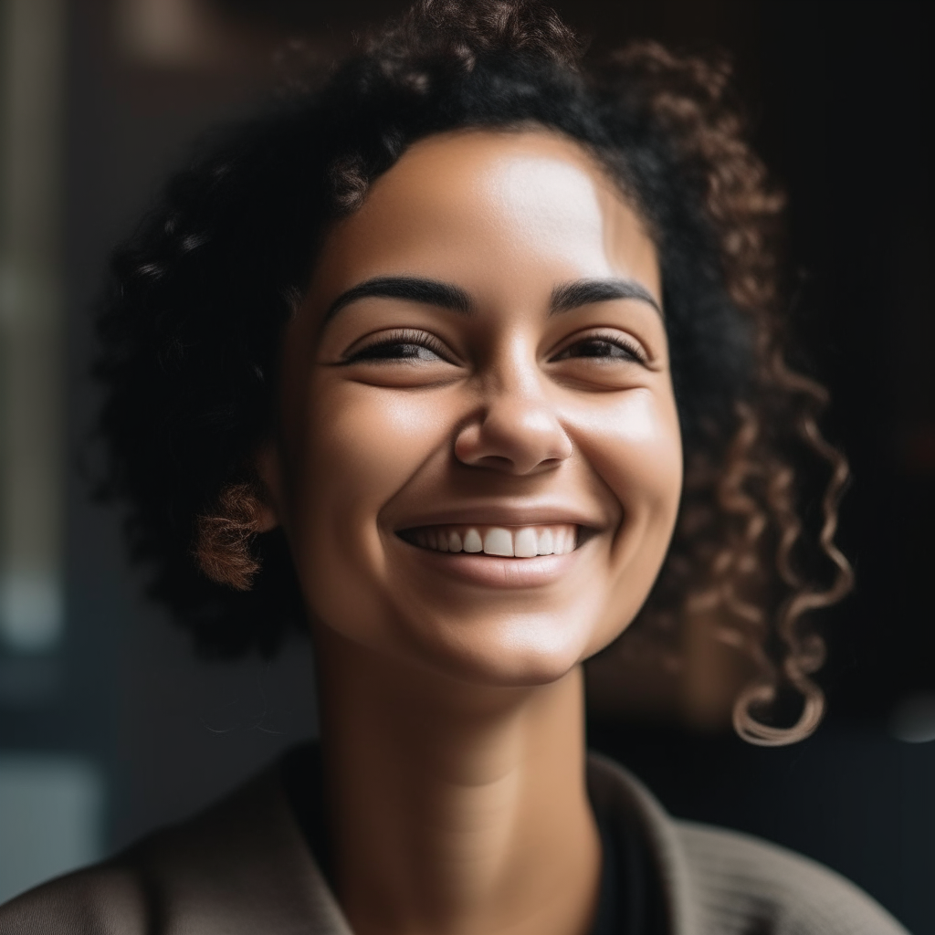
<path fill-rule="evenodd" d="M 469 309 L 351 295 L 329 314 L 388 277 L 448 284 Z M 643 297 L 579 290 L 556 309 L 581 281 Z M 312 621 L 358 935 L 590 925 L 582 662 L 639 611 L 681 494 L 661 305 L 638 215 L 543 130 L 425 139 L 326 237 L 260 468 Z M 442 554 L 399 535 L 557 523 L 580 528 L 574 552 Z"/>

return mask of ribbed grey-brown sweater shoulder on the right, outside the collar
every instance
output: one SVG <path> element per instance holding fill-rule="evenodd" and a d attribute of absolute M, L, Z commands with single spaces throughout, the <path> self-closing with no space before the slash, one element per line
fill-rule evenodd
<path fill-rule="evenodd" d="M 840 874 L 776 844 L 676 821 L 702 931 L 782 935 L 906 935 Z"/>

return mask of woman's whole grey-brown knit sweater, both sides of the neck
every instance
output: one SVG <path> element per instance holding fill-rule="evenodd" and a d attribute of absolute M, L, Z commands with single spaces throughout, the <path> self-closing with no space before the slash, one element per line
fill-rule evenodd
<path fill-rule="evenodd" d="M 671 935 L 906 935 L 837 873 L 665 813 L 611 760 L 588 787 L 640 827 Z M 269 770 L 208 812 L 0 908 L 0 935 L 352 935 Z"/>

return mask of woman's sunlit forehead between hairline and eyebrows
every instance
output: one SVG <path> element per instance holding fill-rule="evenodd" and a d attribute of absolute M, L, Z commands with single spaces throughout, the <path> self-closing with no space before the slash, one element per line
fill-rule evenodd
<path fill-rule="evenodd" d="M 491 284 L 522 273 L 624 276 L 660 293 L 639 216 L 589 152 L 546 130 L 459 131 L 414 144 L 335 226 L 321 260 L 336 289 L 387 272 L 481 289 L 481 275 Z"/>

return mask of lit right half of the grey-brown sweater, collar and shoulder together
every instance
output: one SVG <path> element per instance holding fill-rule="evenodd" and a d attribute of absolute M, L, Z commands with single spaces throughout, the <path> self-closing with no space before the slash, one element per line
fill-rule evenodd
<path fill-rule="evenodd" d="M 643 838 L 678 935 L 907 935 L 856 885 L 807 857 L 672 818 L 604 756 L 589 757 L 588 782 L 592 798 L 626 813 Z"/>

